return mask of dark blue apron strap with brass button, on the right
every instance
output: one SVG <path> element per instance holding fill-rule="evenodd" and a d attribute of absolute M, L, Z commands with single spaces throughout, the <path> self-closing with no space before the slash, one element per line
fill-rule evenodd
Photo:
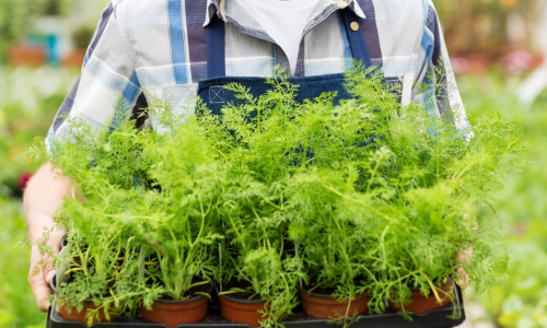
<path fill-rule="evenodd" d="M 349 8 L 342 10 L 341 16 L 344 17 L 344 24 L 346 25 L 346 31 L 348 32 L 349 44 L 351 46 L 353 58 L 362 61 L 365 67 L 371 67 L 371 55 L 369 54 L 366 40 L 364 39 L 362 19 Z"/>

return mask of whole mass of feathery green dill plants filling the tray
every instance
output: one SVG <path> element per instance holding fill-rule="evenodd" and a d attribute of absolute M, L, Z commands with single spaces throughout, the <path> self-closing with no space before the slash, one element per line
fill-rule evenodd
<path fill-rule="evenodd" d="M 274 326 L 300 283 L 339 301 L 366 292 L 380 313 L 385 298 L 404 308 L 411 289 L 445 297 L 459 267 L 479 291 L 503 273 L 486 209 L 521 165 L 519 127 L 492 115 L 458 130 L 454 113 L 401 106 L 398 87 L 360 65 L 346 74 L 354 98 L 337 105 L 336 93 L 298 103 L 282 71 L 267 83 L 259 96 L 226 85 L 244 104 L 222 117 L 200 102 L 176 117 L 153 99 L 163 132 L 139 131 L 120 104 L 112 129 L 74 122 L 50 154 L 32 150 L 79 187 L 57 218 L 80 259 L 60 290 L 72 306 L 85 296 L 131 314 L 219 282 L 264 300 Z M 473 259 L 458 261 L 467 248 Z"/>

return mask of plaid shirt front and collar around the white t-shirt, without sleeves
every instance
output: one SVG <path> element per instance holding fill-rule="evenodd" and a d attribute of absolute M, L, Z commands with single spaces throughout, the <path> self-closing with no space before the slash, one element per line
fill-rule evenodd
<path fill-rule="evenodd" d="M 341 4 L 341 5 L 340 5 Z M 353 58 L 340 16 L 349 5 L 360 17 L 373 65 L 386 79 L 403 81 L 427 66 L 421 46 L 429 5 L 423 0 L 321 0 L 301 37 L 294 77 L 341 73 Z M 121 0 L 116 20 L 132 52 L 143 91 L 160 95 L 186 85 L 188 94 L 207 79 L 207 31 L 220 0 Z M 274 68 L 290 70 L 288 57 L 248 11 L 235 0 L 225 3 L 225 70 L 229 77 L 272 77 Z"/>

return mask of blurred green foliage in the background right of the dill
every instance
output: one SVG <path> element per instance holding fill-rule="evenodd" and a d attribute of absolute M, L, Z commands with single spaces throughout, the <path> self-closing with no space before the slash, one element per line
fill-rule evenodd
<path fill-rule="evenodd" d="M 459 82 L 468 113 L 499 112 L 524 127 L 529 142 L 529 166 L 509 177 L 494 204 L 504 222 L 510 273 L 481 302 L 501 327 L 547 327 L 547 93 L 523 110 L 514 95 L 517 81 L 501 73 Z"/>

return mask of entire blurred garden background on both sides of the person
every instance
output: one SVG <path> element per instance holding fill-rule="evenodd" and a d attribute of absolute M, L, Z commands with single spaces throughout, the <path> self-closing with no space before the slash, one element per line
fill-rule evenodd
<path fill-rule="evenodd" d="M 26 282 L 21 196 L 75 81 L 107 0 L 0 0 L 0 328 L 45 327 Z M 547 327 L 547 0 L 434 0 L 470 115 L 498 112 L 525 129 L 529 161 L 493 204 L 511 256 L 490 295 L 467 291 L 472 328 Z"/>

